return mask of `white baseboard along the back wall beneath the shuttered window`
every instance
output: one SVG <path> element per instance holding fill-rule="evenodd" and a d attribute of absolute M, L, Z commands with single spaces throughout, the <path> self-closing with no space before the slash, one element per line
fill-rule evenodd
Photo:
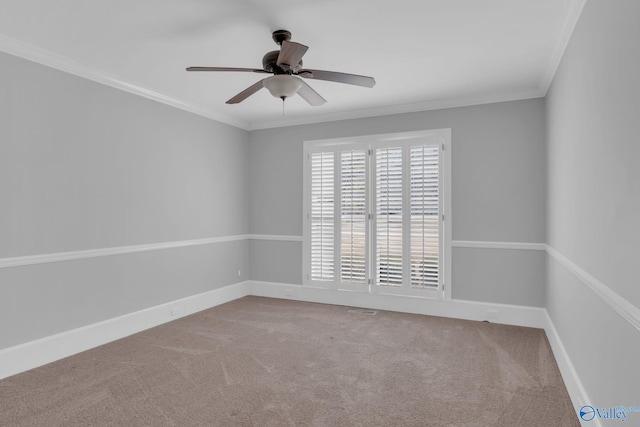
<path fill-rule="evenodd" d="M 506 325 L 544 329 L 546 310 L 507 304 L 464 300 L 440 300 L 415 296 L 366 294 L 355 291 L 288 285 L 273 282 L 247 282 L 249 295 L 292 299 L 324 304 L 363 307 L 402 313 L 426 314 L 465 320 L 488 320 Z"/>

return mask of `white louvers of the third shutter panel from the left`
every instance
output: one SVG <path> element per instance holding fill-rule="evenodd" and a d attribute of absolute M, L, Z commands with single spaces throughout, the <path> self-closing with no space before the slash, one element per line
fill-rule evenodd
<path fill-rule="evenodd" d="M 376 150 L 376 283 L 402 286 L 402 148 Z"/>

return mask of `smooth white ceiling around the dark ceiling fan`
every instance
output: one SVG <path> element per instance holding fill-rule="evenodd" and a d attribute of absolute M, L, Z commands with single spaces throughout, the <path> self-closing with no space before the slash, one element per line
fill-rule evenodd
<path fill-rule="evenodd" d="M 544 96 L 585 0 L 2 0 L 0 50 L 245 129 Z M 376 79 L 307 80 L 327 103 L 261 90 L 276 29 L 305 67 Z"/>

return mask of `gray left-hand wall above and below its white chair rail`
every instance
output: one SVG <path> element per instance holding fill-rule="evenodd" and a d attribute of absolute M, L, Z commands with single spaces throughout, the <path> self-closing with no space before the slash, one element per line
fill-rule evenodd
<path fill-rule="evenodd" d="M 248 232 L 248 132 L 6 54 L 0 75 L 0 258 Z M 248 270 L 246 241 L 2 268 L 0 349 Z"/>

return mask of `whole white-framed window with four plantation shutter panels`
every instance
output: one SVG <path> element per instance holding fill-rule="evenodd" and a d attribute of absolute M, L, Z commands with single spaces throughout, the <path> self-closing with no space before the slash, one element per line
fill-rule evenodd
<path fill-rule="evenodd" d="M 305 142 L 306 285 L 449 295 L 450 135 Z"/>

